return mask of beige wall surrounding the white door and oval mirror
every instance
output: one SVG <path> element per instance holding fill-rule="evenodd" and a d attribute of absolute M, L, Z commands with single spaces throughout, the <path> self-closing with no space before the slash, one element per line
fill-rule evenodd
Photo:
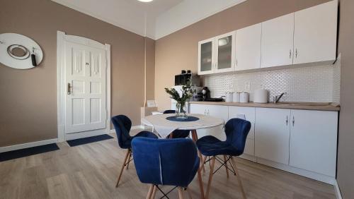
<path fill-rule="evenodd" d="M 38 42 L 40 66 L 16 70 L 0 64 L 0 147 L 57 138 L 57 30 L 111 44 L 112 115 L 139 124 L 144 102 L 144 37 L 49 0 L 1 1 L 0 32 Z"/>

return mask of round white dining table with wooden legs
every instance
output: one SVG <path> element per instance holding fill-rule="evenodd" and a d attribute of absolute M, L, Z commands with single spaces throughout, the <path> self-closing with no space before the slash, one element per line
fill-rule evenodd
<path fill-rule="evenodd" d="M 219 125 L 224 125 L 224 120 L 213 116 L 206 116 L 202 114 L 188 114 L 188 116 L 198 117 L 197 121 L 170 121 L 166 119 L 169 116 L 174 116 L 175 114 L 157 114 L 146 116 L 142 119 L 142 123 L 147 126 L 152 126 L 154 130 L 161 136 L 161 138 L 172 138 L 171 133 L 174 130 L 190 130 L 192 133 L 192 139 L 194 142 L 198 140 L 198 129 L 212 128 Z M 202 155 L 198 151 L 200 162 L 202 162 Z M 201 169 L 202 167 L 200 167 Z M 204 168 L 204 167 L 203 167 Z M 198 169 L 198 181 L 200 186 L 201 198 L 204 196 L 204 188 L 202 186 L 202 175 L 200 174 L 200 169 Z"/>

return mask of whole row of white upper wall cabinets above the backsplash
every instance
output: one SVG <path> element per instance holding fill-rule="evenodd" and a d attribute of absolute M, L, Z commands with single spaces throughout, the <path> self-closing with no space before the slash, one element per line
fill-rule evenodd
<path fill-rule="evenodd" d="M 198 43 L 198 74 L 336 60 L 338 0 Z"/>

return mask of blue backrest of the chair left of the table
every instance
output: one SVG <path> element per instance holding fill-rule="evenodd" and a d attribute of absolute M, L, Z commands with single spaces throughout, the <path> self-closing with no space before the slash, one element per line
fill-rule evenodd
<path fill-rule="evenodd" d="M 118 115 L 112 117 L 112 123 L 117 134 L 118 145 L 121 148 L 127 148 L 125 143 L 132 139 L 129 135 L 130 128 L 132 128 L 132 121 L 125 115 Z"/>

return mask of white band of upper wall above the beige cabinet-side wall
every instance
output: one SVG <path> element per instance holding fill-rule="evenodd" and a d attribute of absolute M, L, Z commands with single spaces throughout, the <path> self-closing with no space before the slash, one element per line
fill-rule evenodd
<path fill-rule="evenodd" d="M 176 32 L 178 30 L 186 28 L 189 25 L 193 25 L 193 23 L 197 23 L 200 20 L 203 20 L 205 18 L 213 16 L 216 13 L 224 11 L 227 8 L 231 8 L 232 6 L 236 6 L 237 4 L 241 4 L 242 2 L 247 1 L 247 0 L 229 0 L 232 2 L 229 4 L 226 4 L 226 5 L 224 5 L 225 0 L 223 2 L 217 1 L 221 5 L 221 6 L 219 6 L 219 8 L 212 8 L 212 6 L 213 6 L 212 4 L 210 4 L 210 7 L 208 8 L 208 6 L 205 6 L 205 3 L 207 1 L 209 1 L 209 2 L 214 1 L 214 2 L 212 2 L 212 4 L 218 4 L 218 3 L 215 3 L 215 0 L 204 0 L 204 2 L 202 2 L 202 3 L 204 3 L 202 8 L 207 8 L 208 11 L 206 11 L 205 13 L 202 13 L 199 16 L 195 15 L 195 13 L 188 13 L 187 6 L 190 6 L 190 5 L 188 5 L 188 3 L 189 4 L 195 4 L 195 2 L 201 3 L 200 1 L 195 1 L 195 0 L 184 0 L 180 4 L 171 8 L 169 11 L 161 13 L 161 15 L 159 15 L 155 20 L 155 37 L 154 37 L 154 39 L 159 40 L 161 37 L 165 37 L 167 35 L 170 35 L 173 32 Z M 198 8 L 200 9 L 200 6 L 193 6 L 193 7 L 194 7 L 193 9 L 198 9 Z M 183 19 L 178 18 L 178 12 L 181 12 L 182 10 L 185 10 L 185 13 L 183 13 L 183 15 L 188 16 L 188 21 L 183 22 Z M 190 8 L 189 8 L 189 11 L 190 11 Z M 180 23 L 180 24 L 171 26 L 171 25 L 168 25 L 168 23 Z"/>

